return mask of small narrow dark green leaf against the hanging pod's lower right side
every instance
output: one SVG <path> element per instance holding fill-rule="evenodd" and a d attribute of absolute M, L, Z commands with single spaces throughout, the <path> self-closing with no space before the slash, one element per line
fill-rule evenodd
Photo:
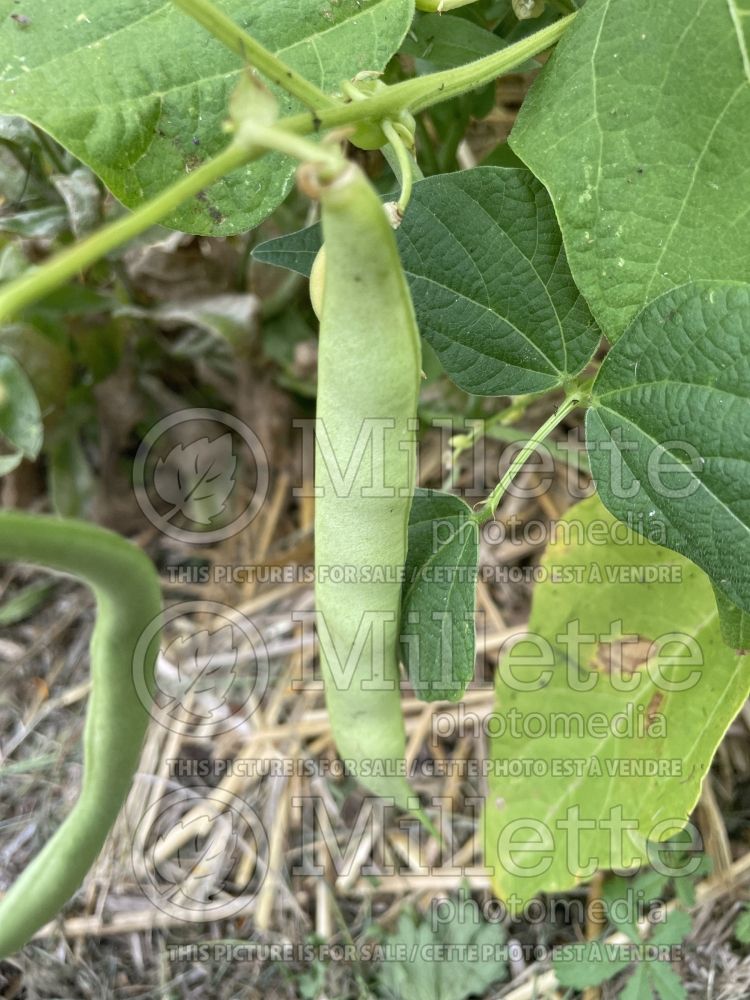
<path fill-rule="evenodd" d="M 479 532 L 456 496 L 417 490 L 401 596 L 401 652 L 424 701 L 459 701 L 474 676 Z"/>

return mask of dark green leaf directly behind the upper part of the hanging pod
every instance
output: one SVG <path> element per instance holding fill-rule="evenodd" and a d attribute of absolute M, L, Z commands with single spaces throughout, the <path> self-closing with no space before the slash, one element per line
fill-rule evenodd
<path fill-rule="evenodd" d="M 255 256 L 305 273 L 314 236 L 269 241 Z M 476 167 L 420 181 L 397 236 L 422 336 L 466 392 L 551 389 L 591 359 L 598 327 L 549 196 L 527 170 Z"/>

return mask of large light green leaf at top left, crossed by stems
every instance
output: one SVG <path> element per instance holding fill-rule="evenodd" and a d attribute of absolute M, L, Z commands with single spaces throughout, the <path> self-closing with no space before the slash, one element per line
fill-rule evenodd
<path fill-rule="evenodd" d="M 413 0 L 217 5 L 326 92 L 361 70 L 382 70 L 414 14 Z M 128 208 L 226 146 L 222 124 L 242 61 L 174 4 L 24 0 L 23 13 L 23 28 L 0 20 L 0 111 L 43 128 Z M 281 114 L 301 110 L 277 96 Z M 288 158 L 264 157 L 166 224 L 212 235 L 250 229 L 287 195 L 294 170 Z"/>

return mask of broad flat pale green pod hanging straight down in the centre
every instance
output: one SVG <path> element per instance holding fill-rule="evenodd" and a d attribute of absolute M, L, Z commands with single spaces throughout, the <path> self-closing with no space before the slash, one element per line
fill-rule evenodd
<path fill-rule="evenodd" d="M 326 254 L 315 470 L 321 671 L 341 758 L 369 791 L 409 809 L 398 633 L 419 332 L 393 230 L 364 174 L 347 164 L 334 180 L 317 180 Z M 342 487 L 339 475 L 352 466 Z"/>

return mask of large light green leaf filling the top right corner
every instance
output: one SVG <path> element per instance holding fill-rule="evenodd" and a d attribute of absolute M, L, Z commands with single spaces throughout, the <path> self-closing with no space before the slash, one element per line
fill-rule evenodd
<path fill-rule="evenodd" d="M 588 0 L 523 104 L 511 145 L 612 340 L 674 285 L 747 277 L 749 23 L 737 0 Z"/>

